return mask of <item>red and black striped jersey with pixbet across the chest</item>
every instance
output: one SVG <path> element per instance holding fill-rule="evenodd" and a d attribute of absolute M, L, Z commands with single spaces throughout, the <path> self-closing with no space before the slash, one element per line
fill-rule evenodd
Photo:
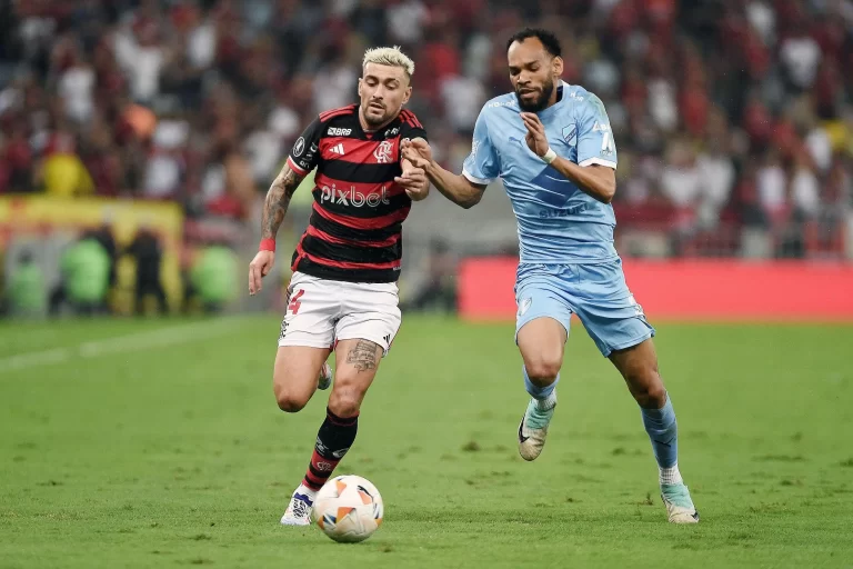
<path fill-rule="evenodd" d="M 402 173 L 400 141 L 426 132 L 403 110 L 365 132 L 359 107 L 320 113 L 293 144 L 288 166 L 301 176 L 317 168 L 308 230 L 292 270 L 350 282 L 394 282 L 403 254 L 402 223 L 412 200 L 394 182 Z"/>

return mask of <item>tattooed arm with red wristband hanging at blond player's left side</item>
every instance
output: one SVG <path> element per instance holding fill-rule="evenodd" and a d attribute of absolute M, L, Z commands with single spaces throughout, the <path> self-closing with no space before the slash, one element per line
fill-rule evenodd
<path fill-rule="evenodd" d="M 261 217 L 261 246 L 249 263 L 249 293 L 261 290 L 261 279 L 275 263 L 275 234 L 279 232 L 293 193 L 320 160 L 319 142 L 323 126 L 314 120 L 293 144 L 288 161 L 270 184 Z"/>

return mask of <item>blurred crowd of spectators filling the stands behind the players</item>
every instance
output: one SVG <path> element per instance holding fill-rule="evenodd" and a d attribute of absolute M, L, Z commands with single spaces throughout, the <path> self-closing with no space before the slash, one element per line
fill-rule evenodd
<path fill-rule="evenodd" d="M 524 26 L 605 103 L 623 254 L 850 254 L 853 0 L 0 0 L 0 196 L 169 200 L 188 247 L 251 248 L 364 49 L 414 59 L 409 108 L 459 171 Z"/>

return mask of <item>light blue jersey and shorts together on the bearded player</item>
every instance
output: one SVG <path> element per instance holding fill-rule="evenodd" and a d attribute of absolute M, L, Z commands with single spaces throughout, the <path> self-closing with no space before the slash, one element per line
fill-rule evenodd
<path fill-rule="evenodd" d="M 582 167 L 616 168 L 604 104 L 582 87 L 560 84 L 559 101 L 536 113 L 551 149 Z M 474 183 L 503 181 L 519 227 L 515 333 L 536 318 L 566 332 L 572 315 L 604 356 L 654 336 L 628 288 L 613 244 L 613 208 L 569 181 L 528 148 L 515 93 L 489 101 L 474 127 L 462 173 Z"/>

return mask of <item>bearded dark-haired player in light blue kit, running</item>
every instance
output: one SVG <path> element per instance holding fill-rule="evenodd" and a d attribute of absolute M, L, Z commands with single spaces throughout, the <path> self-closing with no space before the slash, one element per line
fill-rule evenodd
<path fill-rule="evenodd" d="M 521 251 L 515 341 L 531 396 L 519 426 L 521 456 L 533 460 L 542 452 L 570 319 L 578 315 L 640 405 L 669 520 L 695 523 L 699 513 L 679 472 L 675 412 L 658 372 L 654 329 L 628 289 L 613 244 L 613 133 L 601 100 L 560 79 L 560 54 L 546 30 L 525 29 L 510 39 L 514 92 L 483 107 L 461 176 L 436 164 L 424 141 L 403 142 L 403 153 L 463 208 L 476 204 L 495 178 L 512 202 Z"/>

